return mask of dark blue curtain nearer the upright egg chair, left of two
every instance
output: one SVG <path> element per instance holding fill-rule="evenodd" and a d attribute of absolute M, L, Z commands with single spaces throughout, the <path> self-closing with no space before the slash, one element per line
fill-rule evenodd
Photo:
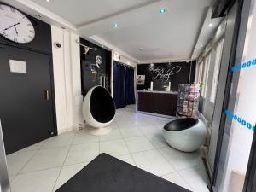
<path fill-rule="evenodd" d="M 113 62 L 113 101 L 116 108 L 125 107 L 125 67 Z"/>

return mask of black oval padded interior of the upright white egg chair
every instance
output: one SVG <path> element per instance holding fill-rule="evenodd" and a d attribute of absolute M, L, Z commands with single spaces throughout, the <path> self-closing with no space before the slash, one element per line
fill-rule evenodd
<path fill-rule="evenodd" d="M 113 119 L 115 105 L 108 90 L 98 86 L 92 91 L 90 96 L 90 113 L 100 123 L 108 123 Z"/>

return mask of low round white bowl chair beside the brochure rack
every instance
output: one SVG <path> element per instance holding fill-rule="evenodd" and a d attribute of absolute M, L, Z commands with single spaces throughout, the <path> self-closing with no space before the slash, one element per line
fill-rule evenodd
<path fill-rule="evenodd" d="M 164 126 L 163 135 L 172 148 L 193 152 L 205 143 L 207 128 L 200 119 L 177 119 Z"/>

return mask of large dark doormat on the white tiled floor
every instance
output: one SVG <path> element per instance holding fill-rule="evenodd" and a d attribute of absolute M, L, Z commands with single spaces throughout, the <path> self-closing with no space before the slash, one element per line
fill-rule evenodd
<path fill-rule="evenodd" d="M 100 154 L 56 192 L 189 192 L 108 154 Z"/>

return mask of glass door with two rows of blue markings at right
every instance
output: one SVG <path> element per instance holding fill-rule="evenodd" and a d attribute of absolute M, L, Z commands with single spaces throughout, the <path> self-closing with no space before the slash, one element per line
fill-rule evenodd
<path fill-rule="evenodd" d="M 235 15 L 241 15 L 241 18 Z M 212 190 L 254 192 L 256 191 L 255 137 L 253 139 L 256 123 L 256 86 L 253 85 L 256 74 L 254 0 L 236 1 L 228 16 L 233 20 L 232 22 L 237 18 L 241 22 L 240 25 L 234 26 L 237 37 L 235 34 L 235 45 L 232 46 L 229 73 L 225 84 Z M 236 71 L 232 70 L 232 67 L 241 64 L 244 67 Z"/>

